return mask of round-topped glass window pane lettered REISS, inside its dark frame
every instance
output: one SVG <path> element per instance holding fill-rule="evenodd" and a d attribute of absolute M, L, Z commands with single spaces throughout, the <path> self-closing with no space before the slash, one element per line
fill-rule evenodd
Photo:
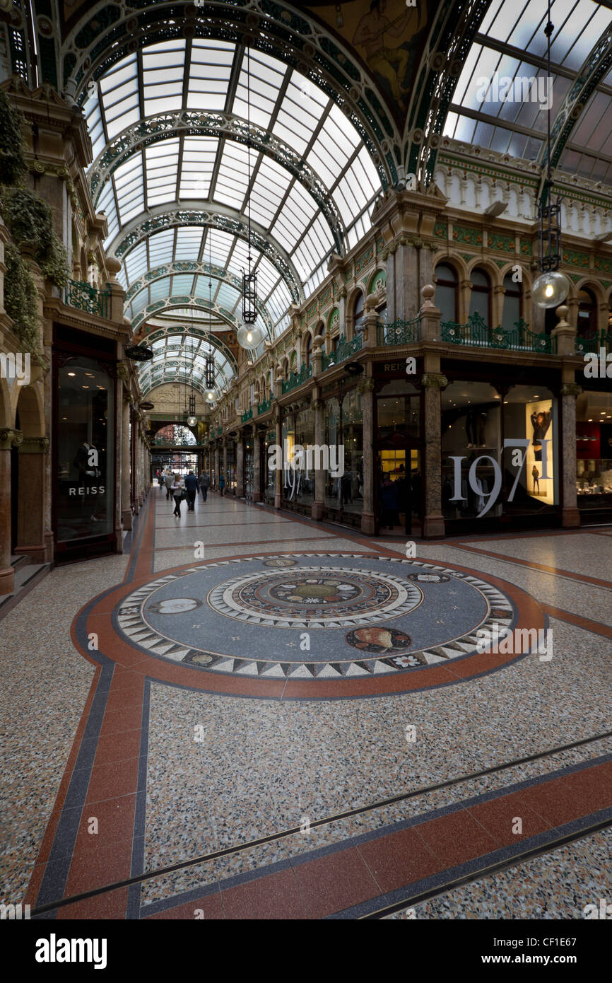
<path fill-rule="evenodd" d="M 92 359 L 58 370 L 58 543 L 113 532 L 114 380 Z"/>

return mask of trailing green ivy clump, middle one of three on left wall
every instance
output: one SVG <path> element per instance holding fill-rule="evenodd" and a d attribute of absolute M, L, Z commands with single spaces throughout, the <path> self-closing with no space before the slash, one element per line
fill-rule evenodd
<path fill-rule="evenodd" d="M 68 283 L 68 254 L 53 231 L 51 208 L 28 188 L 3 188 L 0 212 L 15 242 L 32 249 L 34 260 L 56 287 Z"/>

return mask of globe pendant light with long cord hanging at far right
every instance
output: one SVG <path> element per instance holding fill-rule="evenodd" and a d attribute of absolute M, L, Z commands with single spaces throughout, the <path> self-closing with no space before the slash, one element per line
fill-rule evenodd
<path fill-rule="evenodd" d="M 550 21 L 550 0 L 548 0 L 548 22 L 546 34 L 547 78 L 550 79 L 550 35 L 554 25 Z M 570 282 L 559 272 L 561 265 L 561 196 L 552 202 L 552 169 L 550 160 L 550 101 L 546 110 L 546 180 L 542 198 L 537 206 L 537 241 L 540 275 L 531 288 L 531 299 L 541 308 L 557 308 L 563 304 L 570 290 Z M 543 203 L 545 202 L 545 203 Z M 546 252 L 544 253 L 544 247 Z"/>

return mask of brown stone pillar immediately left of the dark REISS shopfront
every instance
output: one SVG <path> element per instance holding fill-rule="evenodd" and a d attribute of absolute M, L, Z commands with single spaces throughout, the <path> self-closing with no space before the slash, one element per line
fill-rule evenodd
<path fill-rule="evenodd" d="M 24 437 L 19 444 L 19 505 L 17 511 L 16 553 L 24 553 L 34 563 L 46 563 L 49 555 L 45 540 L 45 472 L 49 438 Z M 10 485 L 10 483 L 9 483 Z"/>

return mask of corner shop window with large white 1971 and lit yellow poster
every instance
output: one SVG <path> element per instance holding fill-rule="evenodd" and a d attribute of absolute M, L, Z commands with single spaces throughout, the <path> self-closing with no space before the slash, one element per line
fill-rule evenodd
<path fill-rule="evenodd" d="M 483 377 L 443 369 L 442 512 L 446 532 L 560 524 L 558 377 L 525 369 Z"/>

